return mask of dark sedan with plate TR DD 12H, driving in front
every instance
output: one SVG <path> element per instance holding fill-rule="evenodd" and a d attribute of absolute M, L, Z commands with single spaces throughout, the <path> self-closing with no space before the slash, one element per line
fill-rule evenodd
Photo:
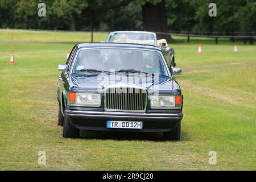
<path fill-rule="evenodd" d="M 64 138 L 80 129 L 163 132 L 180 139 L 183 95 L 160 48 L 83 43 L 59 65 L 57 100 Z"/>

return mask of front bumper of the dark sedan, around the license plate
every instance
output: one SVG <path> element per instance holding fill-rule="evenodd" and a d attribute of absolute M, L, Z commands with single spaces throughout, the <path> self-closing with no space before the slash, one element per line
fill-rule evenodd
<path fill-rule="evenodd" d="M 65 110 L 71 125 L 78 129 L 98 131 L 165 132 L 171 131 L 183 118 L 182 113 L 128 113 L 113 111 Z M 143 129 L 109 129 L 106 121 L 142 121 Z"/>

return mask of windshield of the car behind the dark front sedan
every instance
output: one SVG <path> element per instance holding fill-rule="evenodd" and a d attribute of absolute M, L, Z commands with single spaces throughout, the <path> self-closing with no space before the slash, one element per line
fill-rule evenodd
<path fill-rule="evenodd" d="M 110 43 L 134 43 L 155 46 L 154 34 L 147 32 L 115 32 L 110 34 Z"/>

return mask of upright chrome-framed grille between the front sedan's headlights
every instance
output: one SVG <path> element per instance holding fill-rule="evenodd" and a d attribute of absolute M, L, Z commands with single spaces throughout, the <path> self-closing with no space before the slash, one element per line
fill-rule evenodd
<path fill-rule="evenodd" d="M 108 88 L 105 93 L 107 111 L 146 111 L 147 91 L 141 88 Z"/>

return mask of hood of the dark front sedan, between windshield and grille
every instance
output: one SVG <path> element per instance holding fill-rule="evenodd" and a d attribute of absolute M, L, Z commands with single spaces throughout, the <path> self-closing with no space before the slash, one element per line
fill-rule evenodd
<path fill-rule="evenodd" d="M 100 74 L 100 75 L 72 75 L 70 79 L 73 82 L 72 91 L 86 90 L 88 92 L 104 92 L 109 86 L 139 86 L 148 90 L 173 90 L 179 89 L 177 82 L 170 77 L 159 76 L 138 76 L 125 74 Z"/>

